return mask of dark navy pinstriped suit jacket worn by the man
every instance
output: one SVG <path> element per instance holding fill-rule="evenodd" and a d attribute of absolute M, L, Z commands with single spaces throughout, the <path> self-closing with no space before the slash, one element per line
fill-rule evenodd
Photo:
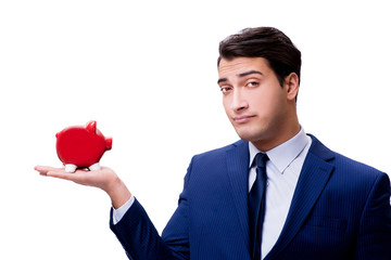
<path fill-rule="evenodd" d="M 281 234 L 266 260 L 390 260 L 389 177 L 316 138 Z M 157 234 L 136 200 L 111 229 L 129 259 L 250 260 L 249 144 L 192 158 L 178 208 Z"/>

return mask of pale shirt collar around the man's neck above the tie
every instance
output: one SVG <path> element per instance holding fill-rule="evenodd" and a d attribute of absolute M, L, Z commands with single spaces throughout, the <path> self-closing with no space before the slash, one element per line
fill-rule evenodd
<path fill-rule="evenodd" d="M 277 169 L 282 173 L 287 167 L 300 155 L 300 153 L 307 145 L 308 139 L 305 134 L 303 128 L 300 129 L 299 133 L 287 142 L 274 147 L 273 150 L 266 152 L 269 160 L 277 167 Z M 264 153 L 255 147 L 251 142 L 249 142 L 250 151 L 250 168 L 252 161 L 255 158 L 257 153 Z"/>

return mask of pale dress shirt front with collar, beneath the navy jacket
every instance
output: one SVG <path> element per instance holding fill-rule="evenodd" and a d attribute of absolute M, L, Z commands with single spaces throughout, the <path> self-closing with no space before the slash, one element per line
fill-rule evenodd
<path fill-rule="evenodd" d="M 269 160 L 266 162 L 267 187 L 262 234 L 262 259 L 272 250 L 282 231 L 311 143 L 311 138 L 305 134 L 302 128 L 295 136 L 266 152 Z M 249 143 L 249 167 L 251 167 L 255 155 L 262 151 L 258 151 L 252 143 Z M 255 168 L 256 166 L 250 168 L 249 192 L 255 181 Z"/>

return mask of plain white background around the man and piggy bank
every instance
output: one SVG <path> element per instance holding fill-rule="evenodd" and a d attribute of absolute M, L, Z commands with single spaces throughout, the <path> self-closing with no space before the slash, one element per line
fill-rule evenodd
<path fill-rule="evenodd" d="M 391 172 L 387 1 L 0 2 L 0 259 L 127 259 L 98 188 L 40 177 L 54 134 L 94 119 L 161 232 L 197 153 L 238 138 L 217 46 L 275 26 L 302 51 L 299 116 L 331 150 Z M 151 157 L 153 156 L 153 158 Z"/>

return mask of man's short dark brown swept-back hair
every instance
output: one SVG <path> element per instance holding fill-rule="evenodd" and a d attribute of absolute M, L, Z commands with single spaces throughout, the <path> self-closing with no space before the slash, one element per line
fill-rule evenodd
<path fill-rule="evenodd" d="M 228 61 L 235 57 L 264 57 L 276 74 L 280 84 L 291 73 L 300 82 L 301 52 L 282 31 L 273 27 L 245 28 L 228 36 L 219 43 L 219 57 Z"/>

